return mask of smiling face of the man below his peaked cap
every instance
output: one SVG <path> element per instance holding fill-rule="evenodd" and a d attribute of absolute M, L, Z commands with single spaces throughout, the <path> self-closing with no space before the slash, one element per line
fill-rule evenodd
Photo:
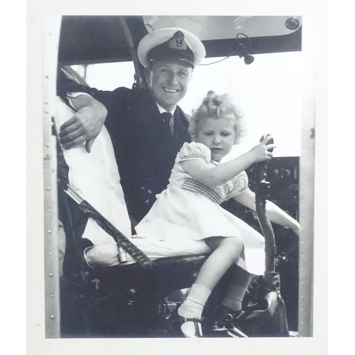
<path fill-rule="evenodd" d="M 191 77 L 192 67 L 181 60 L 154 60 L 146 70 L 151 95 L 167 111 L 185 96 Z"/>

